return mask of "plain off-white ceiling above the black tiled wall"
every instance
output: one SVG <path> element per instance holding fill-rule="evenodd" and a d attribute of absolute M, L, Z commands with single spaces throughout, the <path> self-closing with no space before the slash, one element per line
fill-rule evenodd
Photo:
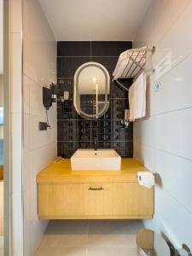
<path fill-rule="evenodd" d="M 150 0 L 38 0 L 57 41 L 133 40 Z"/>

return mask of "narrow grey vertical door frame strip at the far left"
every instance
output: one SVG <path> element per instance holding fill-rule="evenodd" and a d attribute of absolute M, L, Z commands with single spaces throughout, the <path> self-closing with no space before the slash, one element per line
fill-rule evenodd
<path fill-rule="evenodd" d="M 10 72 L 9 0 L 3 0 L 3 236 L 4 255 L 10 255 Z"/>

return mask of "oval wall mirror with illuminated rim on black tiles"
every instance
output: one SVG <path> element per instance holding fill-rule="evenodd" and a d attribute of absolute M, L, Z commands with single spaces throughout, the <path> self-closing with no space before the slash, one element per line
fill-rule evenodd
<path fill-rule="evenodd" d="M 86 62 L 74 74 L 73 104 L 85 119 L 100 118 L 109 107 L 110 77 L 97 62 Z"/>

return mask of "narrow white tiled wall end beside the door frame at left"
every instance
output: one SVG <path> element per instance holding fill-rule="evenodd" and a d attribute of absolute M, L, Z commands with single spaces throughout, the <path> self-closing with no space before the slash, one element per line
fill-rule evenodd
<path fill-rule="evenodd" d="M 11 225 L 10 245 L 13 256 L 23 255 L 22 215 L 22 32 L 21 1 L 11 0 L 9 4 L 9 60 L 10 60 L 10 128 L 11 128 Z"/>

